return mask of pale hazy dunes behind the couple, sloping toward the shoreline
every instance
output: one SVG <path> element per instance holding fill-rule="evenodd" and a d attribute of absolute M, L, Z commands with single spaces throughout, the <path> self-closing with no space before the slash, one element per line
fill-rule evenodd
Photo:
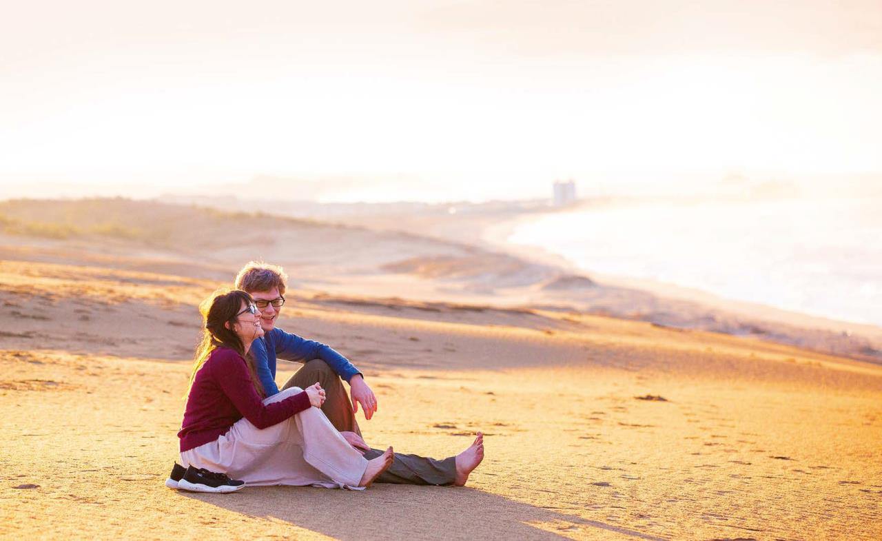
<path fill-rule="evenodd" d="M 486 225 L 494 215 L 469 218 L 447 235 L 465 238 L 464 228 Z M 592 281 L 565 267 L 486 246 L 415 233 L 432 230 L 436 222 L 436 229 L 450 225 L 423 216 L 421 225 L 410 231 L 391 226 L 380 230 L 364 227 L 365 223 L 355 227 L 157 201 L 16 200 L 0 202 L 0 257 L 78 260 L 89 266 L 118 265 L 221 282 L 243 261 L 258 258 L 287 267 L 297 287 L 333 295 L 593 313 L 882 363 L 879 329 L 758 306 L 738 305 L 735 310 L 736 304 L 728 304 L 733 307 L 729 310 L 719 301 L 702 302 L 696 296 L 665 297 L 657 290 Z"/>

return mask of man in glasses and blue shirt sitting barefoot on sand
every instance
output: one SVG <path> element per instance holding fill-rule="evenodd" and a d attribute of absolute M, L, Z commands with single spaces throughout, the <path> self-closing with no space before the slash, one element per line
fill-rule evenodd
<path fill-rule="evenodd" d="M 266 395 L 279 393 L 275 383 L 277 358 L 304 363 L 282 388 L 305 389 L 318 382 L 325 389 L 322 411 L 349 445 L 362 452 L 368 460 L 382 455 L 383 451 L 372 449 L 365 443 L 355 422 L 359 404 L 365 419 L 370 420 L 377 412 L 377 397 L 365 383 L 363 373 L 346 357 L 325 344 L 305 340 L 275 326 L 285 304 L 287 281 L 288 275 L 281 267 L 257 261 L 250 261 L 235 278 L 235 287 L 250 293 L 260 311 L 260 326 L 264 329 L 264 336 L 251 344 L 250 352 Z M 349 384 L 351 402 L 340 379 Z M 442 461 L 396 453 L 392 466 L 377 477 L 377 482 L 462 486 L 466 484 L 469 473 L 483 460 L 483 453 L 481 432 L 460 455 Z"/>

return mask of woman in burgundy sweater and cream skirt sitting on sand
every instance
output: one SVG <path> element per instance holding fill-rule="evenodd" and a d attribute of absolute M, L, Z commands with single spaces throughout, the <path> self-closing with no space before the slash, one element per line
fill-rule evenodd
<path fill-rule="evenodd" d="M 248 485 L 363 489 L 392 463 L 392 447 L 366 460 L 319 410 L 318 385 L 263 400 L 251 342 L 263 335 L 251 296 L 235 289 L 206 300 L 205 329 L 183 414 L 184 467 L 224 472 Z"/>

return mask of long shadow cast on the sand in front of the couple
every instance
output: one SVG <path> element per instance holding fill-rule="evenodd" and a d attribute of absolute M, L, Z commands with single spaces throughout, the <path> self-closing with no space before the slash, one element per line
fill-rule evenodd
<path fill-rule="evenodd" d="M 584 537 L 590 530 L 605 530 L 621 538 L 664 541 L 662 537 L 471 488 L 373 485 L 365 492 L 350 492 L 270 486 L 226 495 L 181 494 L 250 517 L 288 522 L 341 541 L 392 537 L 559 540 L 579 533 Z"/>

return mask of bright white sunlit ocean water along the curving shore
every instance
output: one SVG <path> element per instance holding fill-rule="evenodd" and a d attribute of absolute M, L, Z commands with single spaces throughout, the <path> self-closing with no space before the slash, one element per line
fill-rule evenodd
<path fill-rule="evenodd" d="M 882 199 L 706 200 L 578 207 L 520 222 L 587 274 L 701 289 L 882 326 Z"/>

